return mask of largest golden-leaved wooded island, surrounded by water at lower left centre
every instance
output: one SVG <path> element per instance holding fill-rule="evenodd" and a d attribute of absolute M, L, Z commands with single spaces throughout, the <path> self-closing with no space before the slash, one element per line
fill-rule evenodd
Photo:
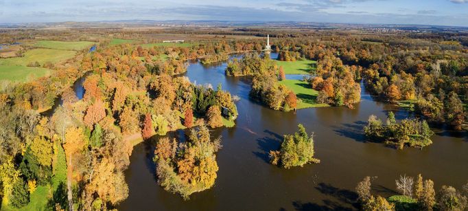
<path fill-rule="evenodd" d="M 169 192 L 184 199 L 194 192 L 215 184 L 218 164 L 215 153 L 221 148 L 221 139 L 211 139 L 207 126 L 191 129 L 187 142 L 168 137 L 159 139 L 154 151 L 158 183 Z"/>

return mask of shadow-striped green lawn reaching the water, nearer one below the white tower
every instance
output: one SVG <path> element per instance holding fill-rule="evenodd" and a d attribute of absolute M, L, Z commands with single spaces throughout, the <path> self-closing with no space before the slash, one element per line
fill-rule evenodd
<path fill-rule="evenodd" d="M 301 80 L 282 80 L 281 84 L 290 88 L 298 99 L 297 109 L 328 107 L 328 104 L 317 103 L 318 91 L 312 89 L 311 85 Z"/>

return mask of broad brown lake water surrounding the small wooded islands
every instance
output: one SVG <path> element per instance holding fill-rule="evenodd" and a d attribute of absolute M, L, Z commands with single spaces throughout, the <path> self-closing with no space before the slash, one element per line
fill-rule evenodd
<path fill-rule="evenodd" d="M 206 67 L 192 63 L 185 76 L 198 84 L 211 83 L 241 98 L 239 117 L 231 129 L 215 129 L 222 135 L 215 186 L 184 201 L 156 183 L 152 163 L 155 141 L 134 147 L 126 181 L 130 192 L 120 210 L 355 210 L 353 192 L 364 176 L 377 176 L 373 193 L 395 194 L 399 175 L 432 179 L 436 188 L 446 184 L 460 188 L 468 179 L 468 135 L 436 131 L 432 146 L 403 151 L 383 144 L 364 142 L 362 128 L 369 115 L 385 118 L 394 111 L 397 119 L 408 113 L 390 104 L 375 102 L 362 89 L 355 109 L 326 107 L 284 113 L 262 107 L 248 99 L 250 85 L 242 78 L 226 78 L 226 64 Z M 276 150 L 281 135 L 304 124 L 314 132 L 320 164 L 285 170 L 268 164 L 268 151 Z M 178 131 L 175 135 L 183 135 Z"/>

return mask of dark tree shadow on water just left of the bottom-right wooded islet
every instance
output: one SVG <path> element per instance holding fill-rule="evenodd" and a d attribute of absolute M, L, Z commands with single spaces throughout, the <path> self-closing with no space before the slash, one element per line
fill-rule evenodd
<path fill-rule="evenodd" d="M 323 182 L 318 184 L 318 186 L 315 188 L 324 195 L 334 197 L 338 201 L 341 201 L 342 203 L 347 203 L 353 206 L 354 208 L 359 208 L 358 194 L 354 191 L 336 188 L 334 186 L 331 186 L 331 184 L 325 184 Z M 327 201 L 324 202 L 326 203 Z"/>

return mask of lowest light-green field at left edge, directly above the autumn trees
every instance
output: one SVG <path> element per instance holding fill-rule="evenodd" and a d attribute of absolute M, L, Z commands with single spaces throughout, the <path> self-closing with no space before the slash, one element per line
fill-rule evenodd
<path fill-rule="evenodd" d="M 0 80 L 25 82 L 29 79 L 48 76 L 50 69 L 42 67 L 5 66 L 0 65 Z"/>

